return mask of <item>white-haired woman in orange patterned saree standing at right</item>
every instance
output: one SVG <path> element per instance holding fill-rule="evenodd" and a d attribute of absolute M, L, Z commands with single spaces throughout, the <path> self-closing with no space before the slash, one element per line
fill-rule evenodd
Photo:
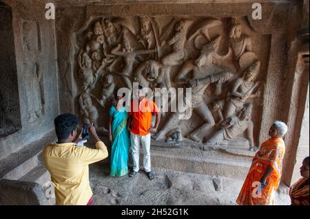
<path fill-rule="evenodd" d="M 238 205 L 274 205 L 285 154 L 285 142 L 282 137 L 286 132 L 285 123 L 273 122 L 269 129 L 271 138 L 262 143 L 256 152 L 245 183 L 236 200 Z"/>

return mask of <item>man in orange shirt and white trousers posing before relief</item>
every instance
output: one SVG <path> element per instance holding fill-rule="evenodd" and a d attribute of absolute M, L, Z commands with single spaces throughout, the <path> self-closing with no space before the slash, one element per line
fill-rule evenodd
<path fill-rule="evenodd" d="M 134 95 L 138 97 L 132 101 L 130 107 L 130 117 L 128 119 L 128 128 L 130 129 L 130 139 L 132 143 L 132 160 L 134 168 L 130 172 L 130 177 L 136 175 L 139 171 L 139 149 L 140 143 L 143 147 L 143 168 L 150 180 L 154 178 L 151 170 L 151 133 L 156 132 L 159 122 L 161 121 L 161 113 L 158 111 L 156 104 L 145 97 L 143 87 L 138 86 L 134 90 Z M 152 127 L 152 115 L 156 115 L 155 126 Z"/>

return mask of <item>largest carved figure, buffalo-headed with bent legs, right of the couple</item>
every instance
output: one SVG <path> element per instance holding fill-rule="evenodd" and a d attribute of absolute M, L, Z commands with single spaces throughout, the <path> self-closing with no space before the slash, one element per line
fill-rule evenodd
<path fill-rule="evenodd" d="M 210 44 L 213 45 L 213 42 Z M 214 46 L 209 48 L 209 52 L 205 54 L 204 63 L 206 66 L 205 69 L 203 69 L 204 71 L 194 69 L 194 71 L 192 71 L 192 78 L 187 78 L 187 73 L 189 73 L 192 68 L 187 68 L 185 66 L 185 68 L 180 69 L 178 75 L 176 76 L 176 84 L 187 84 L 188 87 L 192 88 L 192 100 L 189 100 L 192 101 L 192 109 L 205 122 L 187 136 L 189 139 L 196 142 L 201 142 L 198 135 L 203 134 L 215 124 L 214 118 L 209 111 L 207 104 L 203 100 L 205 90 L 209 87 L 209 84 L 214 82 L 222 84 L 223 82 L 229 80 L 232 76 L 231 73 L 223 71 L 223 69 L 220 69 L 217 65 L 213 64 L 213 55 L 216 53 L 216 49 L 214 49 Z M 185 63 L 185 65 L 187 65 L 187 63 Z M 186 106 L 189 107 L 187 104 Z M 167 123 L 163 126 L 163 129 L 160 132 L 157 132 L 153 139 L 163 137 L 164 133 L 167 132 L 167 129 L 170 128 L 170 124 L 177 119 L 178 115 L 178 112 L 172 113 L 172 116 L 169 117 Z"/>

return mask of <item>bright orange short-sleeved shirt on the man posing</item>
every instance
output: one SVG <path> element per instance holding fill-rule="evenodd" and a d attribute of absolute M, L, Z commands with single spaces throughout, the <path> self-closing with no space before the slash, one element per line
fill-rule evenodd
<path fill-rule="evenodd" d="M 152 124 L 152 113 L 159 113 L 156 104 L 147 98 L 143 98 L 140 103 L 138 100 L 134 100 L 130 110 L 130 113 L 128 113 L 132 117 L 132 128 L 130 131 L 140 136 L 148 135 L 149 132 L 147 130 Z"/>

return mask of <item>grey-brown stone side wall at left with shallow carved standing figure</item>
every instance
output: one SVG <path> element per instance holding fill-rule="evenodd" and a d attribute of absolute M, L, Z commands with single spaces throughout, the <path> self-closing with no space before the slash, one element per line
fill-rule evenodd
<path fill-rule="evenodd" d="M 14 90 L 10 101 L 18 102 L 16 116 L 20 118 L 18 130 L 0 139 L 1 159 L 53 130 L 54 117 L 59 114 L 59 91 L 55 23 L 45 19 L 45 3 L 10 0 L 0 3 L 1 21 L 13 27 L 12 32 L 4 33 L 4 38 L 9 37 L 7 34 L 12 36 L 10 41 L 6 41 L 8 44 L 1 42 L 1 60 L 2 56 L 6 56 L 5 60 L 10 57 L 10 63 L 14 62 L 12 67 L 8 67 L 11 72 L 1 68 L 1 84 L 8 74 L 16 74 L 16 78 L 5 85 L 7 91 Z M 3 14 L 3 8 L 10 8 L 11 12 Z M 1 61 L 1 67 L 7 63 Z"/>

